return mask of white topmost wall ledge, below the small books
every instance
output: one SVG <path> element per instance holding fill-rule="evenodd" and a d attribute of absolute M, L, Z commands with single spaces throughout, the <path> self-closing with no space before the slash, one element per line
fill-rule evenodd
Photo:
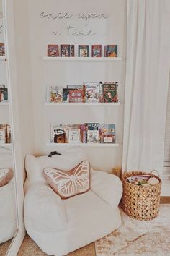
<path fill-rule="evenodd" d="M 121 61 L 121 57 L 43 57 L 44 61 L 107 61 L 107 62 L 112 62 L 112 61 Z"/>

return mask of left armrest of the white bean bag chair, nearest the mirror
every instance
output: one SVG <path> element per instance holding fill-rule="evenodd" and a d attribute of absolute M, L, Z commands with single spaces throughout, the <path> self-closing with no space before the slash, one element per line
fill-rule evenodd
<path fill-rule="evenodd" d="M 63 200 L 44 182 L 33 183 L 24 197 L 24 222 L 37 231 L 66 228 L 67 216 Z"/>

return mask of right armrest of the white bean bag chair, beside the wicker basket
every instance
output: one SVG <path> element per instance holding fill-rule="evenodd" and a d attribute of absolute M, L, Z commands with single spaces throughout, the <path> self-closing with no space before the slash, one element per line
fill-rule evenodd
<path fill-rule="evenodd" d="M 122 182 L 114 174 L 104 171 L 91 171 L 90 189 L 114 208 L 122 197 Z"/>

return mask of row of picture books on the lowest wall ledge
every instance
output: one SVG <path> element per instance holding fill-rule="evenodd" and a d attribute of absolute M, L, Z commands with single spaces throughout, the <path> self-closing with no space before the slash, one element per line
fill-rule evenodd
<path fill-rule="evenodd" d="M 51 143 L 115 143 L 115 124 L 51 124 Z"/>

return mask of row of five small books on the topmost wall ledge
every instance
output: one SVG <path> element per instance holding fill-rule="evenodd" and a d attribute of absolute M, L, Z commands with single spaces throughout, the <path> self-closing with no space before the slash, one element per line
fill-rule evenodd
<path fill-rule="evenodd" d="M 48 44 L 48 57 L 74 57 L 75 46 L 73 44 Z M 79 57 L 89 57 L 90 46 L 87 44 L 78 45 L 77 55 Z M 104 48 L 104 53 L 102 53 Z M 95 44 L 91 46 L 91 57 L 117 57 L 117 45 L 108 44 L 104 47 L 101 44 Z"/>

